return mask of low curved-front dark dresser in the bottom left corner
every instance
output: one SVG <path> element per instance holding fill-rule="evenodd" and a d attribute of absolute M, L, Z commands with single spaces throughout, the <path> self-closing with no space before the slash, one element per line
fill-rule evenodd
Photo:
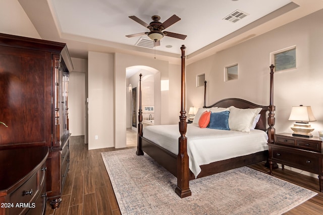
<path fill-rule="evenodd" d="M 47 156 L 48 147 L 0 151 L 0 214 L 44 213 Z"/>

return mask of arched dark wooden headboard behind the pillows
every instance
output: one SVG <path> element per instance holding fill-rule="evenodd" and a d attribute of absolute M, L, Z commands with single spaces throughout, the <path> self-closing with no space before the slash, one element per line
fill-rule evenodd
<path fill-rule="evenodd" d="M 263 130 L 266 131 L 268 124 L 266 121 L 267 118 L 267 112 L 270 110 L 269 106 L 262 106 L 262 105 L 257 105 L 254 104 L 252 102 L 249 102 L 247 100 L 244 99 L 238 99 L 238 98 L 228 98 L 228 99 L 223 99 L 221 101 L 218 101 L 210 106 L 205 106 L 205 108 L 211 108 L 211 107 L 230 107 L 230 106 L 235 106 L 236 108 L 243 108 L 243 109 L 247 109 L 247 108 L 262 108 L 262 110 L 260 111 L 260 118 L 258 123 L 256 124 L 256 129 L 259 130 Z"/>

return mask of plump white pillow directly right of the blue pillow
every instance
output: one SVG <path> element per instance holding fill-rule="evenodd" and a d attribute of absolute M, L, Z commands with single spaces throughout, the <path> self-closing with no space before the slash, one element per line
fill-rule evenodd
<path fill-rule="evenodd" d="M 262 108 L 240 109 L 234 106 L 230 107 L 229 127 L 230 130 L 250 132 L 253 120 Z"/>

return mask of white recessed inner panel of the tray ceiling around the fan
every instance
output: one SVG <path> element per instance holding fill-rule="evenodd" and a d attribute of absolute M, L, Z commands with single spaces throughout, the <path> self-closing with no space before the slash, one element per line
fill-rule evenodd
<path fill-rule="evenodd" d="M 135 45 L 140 37 L 126 35 L 147 32 L 144 26 L 131 20 L 136 16 L 149 24 L 152 15 L 160 22 L 176 14 L 181 20 L 167 31 L 185 34 L 185 41 L 172 37 L 161 39 L 156 50 L 180 53 L 182 44 L 189 44 L 187 54 L 230 34 L 233 31 L 287 5 L 289 0 L 51 0 L 61 32 L 116 43 Z M 77 9 L 77 10 L 76 10 Z M 224 17 L 241 10 L 249 16 L 231 23 Z M 148 38 L 148 36 L 144 35 Z M 167 48 L 172 45 L 172 48 Z"/>

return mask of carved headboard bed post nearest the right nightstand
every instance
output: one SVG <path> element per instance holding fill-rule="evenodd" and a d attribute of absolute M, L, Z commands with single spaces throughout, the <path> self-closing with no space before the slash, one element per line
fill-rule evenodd
<path fill-rule="evenodd" d="M 274 143 L 274 135 L 275 135 L 275 105 L 274 105 L 274 65 L 270 66 L 271 68 L 271 86 L 270 86 L 270 103 L 269 103 L 269 113 L 268 113 L 268 143 Z"/>

